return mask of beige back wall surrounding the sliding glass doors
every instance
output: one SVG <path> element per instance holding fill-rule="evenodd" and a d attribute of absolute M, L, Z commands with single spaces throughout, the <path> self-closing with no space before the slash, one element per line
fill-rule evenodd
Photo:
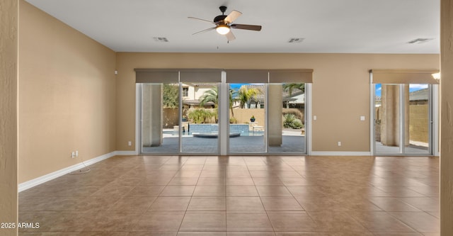
<path fill-rule="evenodd" d="M 134 68 L 314 69 L 313 151 L 369 152 L 368 70 L 439 69 L 439 55 L 119 52 L 117 150 L 133 150 L 127 141 L 135 137 Z"/>

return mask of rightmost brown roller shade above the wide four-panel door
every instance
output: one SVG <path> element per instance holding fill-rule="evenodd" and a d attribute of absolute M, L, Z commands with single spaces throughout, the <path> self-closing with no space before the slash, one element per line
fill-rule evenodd
<path fill-rule="evenodd" d="M 312 83 L 313 69 L 272 69 L 269 83 Z"/>

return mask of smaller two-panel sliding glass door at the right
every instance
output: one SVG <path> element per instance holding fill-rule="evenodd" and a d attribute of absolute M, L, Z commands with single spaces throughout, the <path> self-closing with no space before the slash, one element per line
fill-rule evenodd
<path fill-rule="evenodd" d="M 375 154 L 432 154 L 432 85 L 374 85 Z"/>

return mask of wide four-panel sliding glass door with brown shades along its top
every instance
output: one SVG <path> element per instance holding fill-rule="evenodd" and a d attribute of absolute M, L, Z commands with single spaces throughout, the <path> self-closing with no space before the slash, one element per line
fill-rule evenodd
<path fill-rule="evenodd" d="M 306 154 L 311 72 L 136 69 L 140 152 Z"/>

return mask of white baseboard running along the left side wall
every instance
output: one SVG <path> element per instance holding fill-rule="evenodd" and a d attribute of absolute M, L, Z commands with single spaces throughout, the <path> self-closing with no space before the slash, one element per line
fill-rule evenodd
<path fill-rule="evenodd" d="M 40 184 L 44 184 L 45 182 L 50 181 L 52 179 L 56 179 L 59 176 L 63 176 L 65 174 L 69 174 L 69 173 L 74 172 L 74 171 L 76 171 L 78 169 L 84 168 L 85 166 L 89 166 L 91 164 L 95 164 L 96 162 L 101 162 L 101 161 L 103 161 L 105 159 L 108 159 L 110 157 L 114 157 L 115 155 L 117 155 L 117 152 L 110 152 L 110 153 L 107 153 L 107 154 L 103 154 L 102 156 L 95 157 L 93 159 L 88 159 L 85 162 L 81 162 L 79 164 L 74 164 L 71 167 L 66 167 L 64 169 L 57 170 L 56 172 L 52 172 L 50 174 L 46 174 L 46 175 L 40 176 L 40 177 L 38 177 L 36 179 L 32 179 L 32 180 L 23 182 L 22 184 L 19 184 L 18 192 L 30 189 L 30 188 L 32 188 L 34 186 L 38 186 Z"/>

